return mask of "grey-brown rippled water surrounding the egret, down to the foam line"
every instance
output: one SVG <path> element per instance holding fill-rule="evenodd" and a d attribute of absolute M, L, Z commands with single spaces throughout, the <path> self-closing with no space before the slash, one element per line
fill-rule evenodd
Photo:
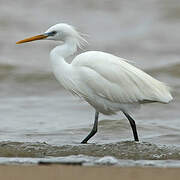
<path fill-rule="evenodd" d="M 164 160 L 164 164 L 168 159 L 180 160 L 179 1 L 45 0 L 33 4 L 6 0 L 0 6 L 0 156 L 80 153 Z M 119 114 L 101 115 L 98 134 L 90 144 L 79 144 L 92 127 L 94 110 L 55 80 L 48 54 L 57 43 L 15 45 L 57 22 L 88 33 L 90 44 L 85 50 L 130 59 L 173 88 L 172 103 L 145 105 L 134 113 L 141 143 L 130 142 L 128 121 Z"/>

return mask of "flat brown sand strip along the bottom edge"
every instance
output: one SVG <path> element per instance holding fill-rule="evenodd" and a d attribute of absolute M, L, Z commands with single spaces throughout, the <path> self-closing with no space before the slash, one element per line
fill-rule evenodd
<path fill-rule="evenodd" d="M 19 166 L 1 165 L 2 180 L 173 180 L 180 178 L 178 168 L 120 168 L 120 167 L 81 167 L 81 166 Z"/>

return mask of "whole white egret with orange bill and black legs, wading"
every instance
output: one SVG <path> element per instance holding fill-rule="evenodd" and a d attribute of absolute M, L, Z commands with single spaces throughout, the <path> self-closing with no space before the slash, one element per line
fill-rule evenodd
<path fill-rule="evenodd" d="M 98 131 L 99 114 L 113 115 L 122 112 L 130 123 L 134 141 L 139 141 L 132 112 L 146 103 L 169 103 L 171 88 L 135 67 L 130 61 L 102 51 L 78 54 L 71 63 L 66 59 L 75 56 L 78 48 L 87 41 L 74 26 L 59 23 L 44 33 L 26 38 L 16 44 L 35 40 L 54 40 L 60 44 L 50 51 L 53 73 L 60 84 L 72 94 L 87 101 L 95 109 L 90 133 L 81 141 L 85 144 Z"/>

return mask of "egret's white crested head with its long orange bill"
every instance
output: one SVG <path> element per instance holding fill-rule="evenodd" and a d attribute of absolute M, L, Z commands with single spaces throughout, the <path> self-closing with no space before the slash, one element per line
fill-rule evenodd
<path fill-rule="evenodd" d="M 73 39 L 74 41 L 76 41 L 77 46 L 80 48 L 84 46 L 85 43 L 87 43 L 87 41 L 82 37 L 82 34 L 79 33 L 73 26 L 65 23 L 60 23 L 51 26 L 43 34 L 23 39 L 21 41 L 16 42 L 16 44 L 42 40 L 42 39 L 62 41 L 62 42 Z"/>

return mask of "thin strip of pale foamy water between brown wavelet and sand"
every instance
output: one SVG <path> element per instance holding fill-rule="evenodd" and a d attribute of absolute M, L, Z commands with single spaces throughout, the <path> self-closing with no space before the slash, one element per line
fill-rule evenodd
<path fill-rule="evenodd" d="M 119 167 L 158 167 L 179 168 L 179 160 L 123 160 L 112 156 L 94 157 L 85 155 L 71 155 L 65 157 L 46 158 L 7 158 L 0 157 L 0 164 L 35 164 L 35 165 L 80 165 L 80 166 L 119 166 Z"/>

